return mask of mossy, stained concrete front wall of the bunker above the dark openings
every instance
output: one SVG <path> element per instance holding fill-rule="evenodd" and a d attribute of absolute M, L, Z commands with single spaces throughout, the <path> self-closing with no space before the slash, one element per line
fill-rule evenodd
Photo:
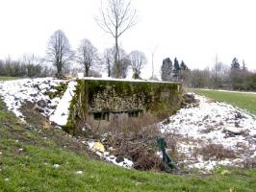
<path fill-rule="evenodd" d="M 94 112 L 141 110 L 164 118 L 180 108 L 180 91 L 174 83 L 79 80 L 65 130 L 78 132 Z"/>

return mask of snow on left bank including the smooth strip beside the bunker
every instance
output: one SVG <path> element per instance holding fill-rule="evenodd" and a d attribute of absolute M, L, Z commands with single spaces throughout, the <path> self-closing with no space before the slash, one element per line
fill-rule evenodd
<path fill-rule="evenodd" d="M 58 125 L 64 125 L 68 115 L 69 102 L 73 95 L 72 91 L 76 83 L 69 82 L 62 98 L 50 99 L 46 94 L 49 91 L 56 91 L 54 87 L 64 82 L 66 81 L 53 78 L 0 82 L 0 96 L 3 98 L 7 108 L 23 121 L 25 117 L 20 108 L 22 105 L 26 105 L 26 102 L 31 102 L 40 109 L 39 111 L 43 115 L 49 117 L 51 121 Z M 57 110 L 55 111 L 56 108 Z"/>

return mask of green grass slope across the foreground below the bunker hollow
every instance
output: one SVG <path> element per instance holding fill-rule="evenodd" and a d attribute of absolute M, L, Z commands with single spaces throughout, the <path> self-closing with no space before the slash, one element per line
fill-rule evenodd
<path fill-rule="evenodd" d="M 0 100 L 0 191 L 227 191 L 256 189 L 256 169 L 177 176 L 126 170 L 24 129 Z M 43 131 L 44 132 L 44 131 Z M 64 134 L 57 132 L 60 140 Z M 62 139 L 71 139 L 64 137 Z M 75 140 L 71 140 L 76 142 Z M 68 142 L 66 142 L 68 145 Z M 20 151 L 22 149 L 22 151 Z M 59 168 L 54 168 L 59 164 Z M 78 175 L 77 171 L 83 171 Z"/>

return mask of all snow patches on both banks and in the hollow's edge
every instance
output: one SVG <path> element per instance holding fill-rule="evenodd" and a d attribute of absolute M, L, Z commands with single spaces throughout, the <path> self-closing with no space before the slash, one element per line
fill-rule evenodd
<path fill-rule="evenodd" d="M 51 121 L 64 125 L 76 82 L 68 83 L 62 98 L 51 100 L 46 94 L 48 91 L 55 91 L 54 87 L 64 82 L 53 78 L 0 81 L 0 96 L 7 108 L 23 121 L 25 117 L 20 108 L 26 102 L 31 102 Z M 165 137 L 176 135 L 177 152 L 182 155 L 178 163 L 185 163 L 189 168 L 211 170 L 217 165 L 243 166 L 247 160 L 256 162 L 256 116 L 239 108 L 193 95 L 199 101 L 198 107 L 181 108 L 167 122 L 160 123 Z M 92 145 L 88 141 L 85 144 Z M 219 158 L 214 156 L 214 152 L 210 152 L 211 156 L 206 158 L 200 150 L 210 145 L 222 146 L 213 149 L 222 150 L 222 153 L 231 152 L 235 156 L 223 155 Z M 95 153 L 116 165 L 133 167 L 131 160 L 117 159 L 109 151 Z"/>

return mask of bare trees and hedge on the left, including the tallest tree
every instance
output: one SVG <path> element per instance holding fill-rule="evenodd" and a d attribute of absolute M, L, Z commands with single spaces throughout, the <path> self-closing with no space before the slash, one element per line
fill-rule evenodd
<path fill-rule="evenodd" d="M 109 77 L 126 78 L 128 67 L 133 70 L 133 77 L 140 79 L 141 68 L 146 63 L 145 55 L 134 50 L 130 54 L 126 54 L 124 49 L 119 46 L 119 38 L 127 30 L 136 25 L 137 11 L 132 8 L 130 0 L 107 0 L 102 2 L 99 16 L 96 18 L 98 26 L 107 34 L 114 37 L 115 46 L 107 48 L 103 54 L 99 54 L 88 38 L 81 40 L 78 48 L 72 50 L 67 36 L 62 30 L 57 30 L 50 36 L 46 57 L 44 62 L 52 63 L 53 68 L 50 68 L 52 73 L 55 73 L 57 78 L 64 78 L 64 75 L 71 69 L 73 62 L 77 62 L 83 67 L 85 76 L 99 75 L 95 69 L 105 68 Z M 37 61 L 33 60 L 34 65 L 30 65 L 35 71 L 42 73 L 41 66 Z M 2 75 L 9 76 L 27 76 L 40 77 L 37 75 L 29 75 L 28 66 L 21 64 L 20 61 L 2 62 Z M 17 68 L 22 68 L 16 72 Z M 12 70 L 11 70 L 12 68 Z M 23 69 L 24 68 L 24 69 Z M 44 67 L 43 67 L 44 68 Z M 94 71 L 93 71 L 94 69 Z M 73 69 L 73 72 L 77 69 Z M 96 73 L 96 74 L 95 74 Z M 46 73 L 45 73 L 46 75 Z M 47 74 L 49 75 L 49 74 Z"/>

